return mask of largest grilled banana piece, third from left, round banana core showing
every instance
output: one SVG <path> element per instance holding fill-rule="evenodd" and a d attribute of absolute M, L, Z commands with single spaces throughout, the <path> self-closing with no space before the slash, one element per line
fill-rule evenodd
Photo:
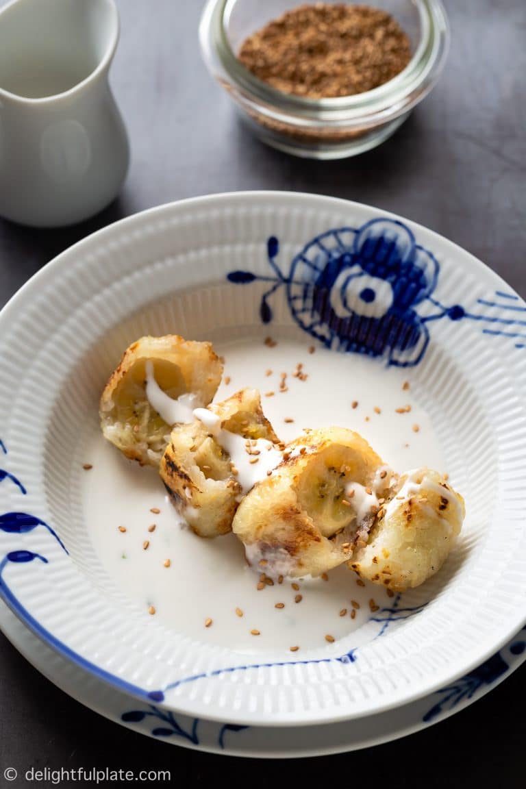
<path fill-rule="evenodd" d="M 319 575 L 367 539 L 392 481 L 367 441 L 345 428 L 312 430 L 241 502 L 233 531 L 248 563 L 270 576 Z M 358 493 L 357 493 L 358 492 Z"/>

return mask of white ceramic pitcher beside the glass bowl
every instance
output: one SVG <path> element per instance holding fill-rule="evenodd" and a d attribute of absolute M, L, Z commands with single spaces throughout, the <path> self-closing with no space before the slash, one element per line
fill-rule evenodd
<path fill-rule="evenodd" d="M 0 8 L 0 216 L 80 222 L 118 193 L 129 164 L 108 84 L 114 0 L 13 0 Z"/>

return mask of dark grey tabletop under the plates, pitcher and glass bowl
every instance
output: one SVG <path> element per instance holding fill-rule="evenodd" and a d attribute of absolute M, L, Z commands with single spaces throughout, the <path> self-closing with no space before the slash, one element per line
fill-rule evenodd
<path fill-rule="evenodd" d="M 446 0 L 453 42 L 435 91 L 382 147 L 330 163 L 273 151 L 239 125 L 201 62 L 203 0 L 118 0 L 118 6 L 121 42 L 111 81 L 129 129 L 129 176 L 118 200 L 82 225 L 31 230 L 0 219 L 0 306 L 58 252 L 99 227 L 171 200 L 239 189 L 315 192 L 394 211 L 456 241 L 526 296 L 524 0 Z M 226 776 L 270 787 L 311 777 L 386 789 L 497 782 L 511 789 L 524 785 L 525 702 L 524 671 L 517 671 L 475 705 L 398 742 L 257 764 L 169 746 L 112 724 L 63 694 L 0 636 L 0 766 L 19 772 L 136 766 L 169 769 L 171 783 L 190 787 Z M 2 781 L 0 773 L 0 787 L 24 783 Z"/>

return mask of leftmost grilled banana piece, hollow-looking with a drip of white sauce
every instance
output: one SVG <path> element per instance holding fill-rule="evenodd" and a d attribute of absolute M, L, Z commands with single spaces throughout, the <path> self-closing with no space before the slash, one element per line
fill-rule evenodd
<path fill-rule="evenodd" d="M 210 342 L 140 338 L 125 350 L 100 399 L 104 436 L 141 466 L 159 466 L 173 422 L 191 421 L 192 408 L 211 402 L 221 376 Z"/>

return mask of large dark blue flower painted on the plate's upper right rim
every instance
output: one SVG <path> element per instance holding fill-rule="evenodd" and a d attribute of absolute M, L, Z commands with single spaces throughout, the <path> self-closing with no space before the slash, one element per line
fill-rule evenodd
<path fill-rule="evenodd" d="M 237 285 L 270 283 L 259 308 L 263 323 L 273 320 L 270 297 L 285 286 L 293 319 L 328 348 L 413 367 L 429 344 L 427 324 L 442 318 L 493 324 L 483 332 L 515 338 L 517 348 L 526 347 L 522 342 L 526 308 L 513 304 L 518 301 L 513 294 L 497 291 L 498 301 L 493 296 L 477 300 L 479 307 L 497 308 L 497 316 L 468 312 L 458 304 L 443 305 L 435 298 L 438 260 L 416 243 L 403 222 L 372 219 L 357 229 L 327 230 L 293 258 L 288 275 L 278 265 L 278 254 L 279 241 L 272 236 L 267 241 L 272 275 L 237 270 L 230 271 L 227 279 Z"/>

